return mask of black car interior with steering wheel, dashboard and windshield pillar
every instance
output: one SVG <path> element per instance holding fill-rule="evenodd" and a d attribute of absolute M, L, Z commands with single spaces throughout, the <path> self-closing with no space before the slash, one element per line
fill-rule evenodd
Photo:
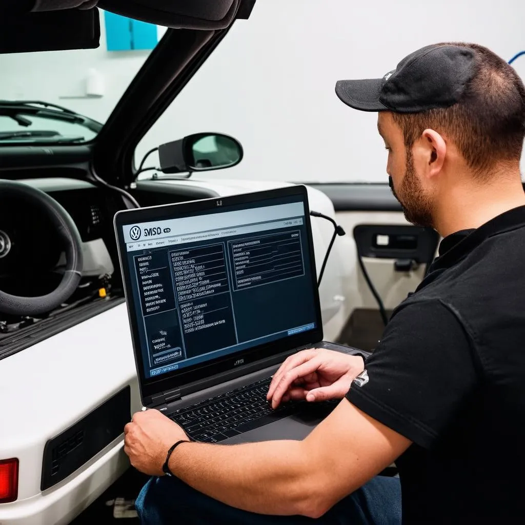
<path fill-rule="evenodd" d="M 53 2 L 22 4 L 2 6 L 2 53 L 98 45 L 96 2 L 65 2 L 57 10 L 48 6 Z M 153 50 L 106 125 L 46 102 L 0 102 L 0 117 L 24 130 L 0 133 L 0 359 L 123 301 L 112 229 L 119 209 L 216 196 L 193 186 L 135 182 L 141 168 L 133 167 L 134 145 L 224 37 L 234 17 L 249 15 L 253 2 L 112 4 L 99 7 L 177 29 L 168 31 Z M 71 33 L 56 35 L 50 23 L 64 24 Z M 23 41 L 17 37 L 20 26 L 30 30 Z M 75 123 L 81 136 L 29 128 L 43 119 Z M 96 138 L 86 140 L 86 131 L 88 139 Z M 201 160 L 194 170 L 212 168 Z M 184 166 L 165 169 L 180 178 L 177 173 Z"/>

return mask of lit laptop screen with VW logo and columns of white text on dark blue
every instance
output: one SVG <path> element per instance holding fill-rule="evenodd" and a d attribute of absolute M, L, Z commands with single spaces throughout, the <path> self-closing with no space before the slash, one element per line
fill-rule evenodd
<path fill-rule="evenodd" d="M 300 196 L 123 226 L 145 377 L 316 327 Z"/>

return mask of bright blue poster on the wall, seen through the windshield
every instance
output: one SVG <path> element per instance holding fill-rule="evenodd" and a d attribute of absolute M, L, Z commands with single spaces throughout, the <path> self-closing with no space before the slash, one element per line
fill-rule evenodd
<path fill-rule="evenodd" d="M 104 11 L 108 51 L 153 49 L 159 42 L 157 26 Z"/>

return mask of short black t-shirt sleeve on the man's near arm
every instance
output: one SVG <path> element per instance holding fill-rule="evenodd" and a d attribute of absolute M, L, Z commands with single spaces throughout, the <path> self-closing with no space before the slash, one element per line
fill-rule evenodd
<path fill-rule="evenodd" d="M 392 317 L 346 398 L 429 448 L 465 406 L 475 384 L 467 333 L 444 304 L 428 301 L 402 306 Z"/>

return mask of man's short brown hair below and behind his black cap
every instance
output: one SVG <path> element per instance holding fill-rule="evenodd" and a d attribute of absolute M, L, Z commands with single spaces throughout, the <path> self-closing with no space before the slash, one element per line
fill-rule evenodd
<path fill-rule="evenodd" d="M 498 163 L 519 162 L 525 138 L 525 86 L 521 78 L 486 47 L 447 45 L 474 51 L 475 75 L 454 106 L 422 113 L 393 113 L 405 145 L 412 148 L 423 131 L 430 128 L 454 141 L 467 165 L 478 175 Z"/>

